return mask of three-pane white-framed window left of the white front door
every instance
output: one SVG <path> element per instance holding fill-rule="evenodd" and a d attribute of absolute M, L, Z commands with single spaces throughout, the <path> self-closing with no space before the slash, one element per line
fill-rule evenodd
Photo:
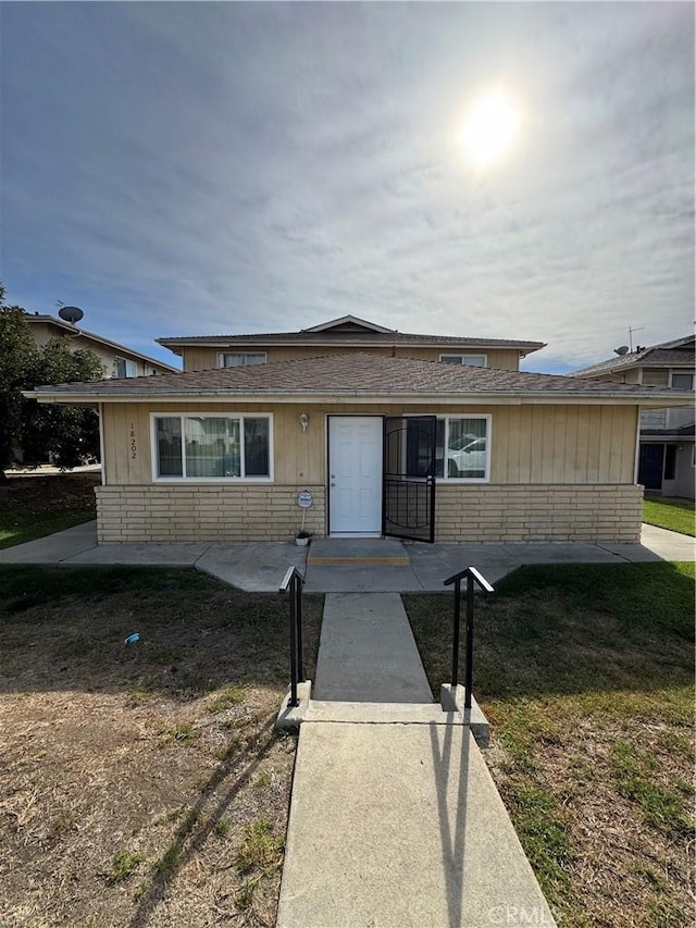
<path fill-rule="evenodd" d="M 270 480 L 270 416 L 153 416 L 156 480 Z"/>

